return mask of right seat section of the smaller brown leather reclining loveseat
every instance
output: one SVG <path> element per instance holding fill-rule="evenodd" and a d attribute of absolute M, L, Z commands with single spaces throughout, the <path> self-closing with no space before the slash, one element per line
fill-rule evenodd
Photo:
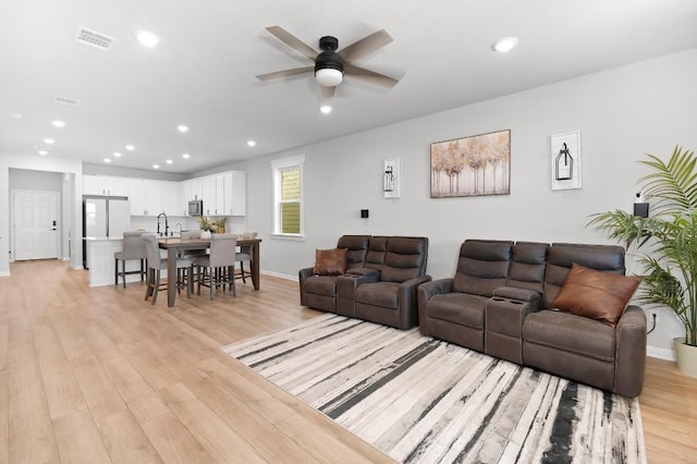
<path fill-rule="evenodd" d="M 357 279 L 354 292 L 355 317 L 408 329 L 418 325 L 416 289 L 431 280 L 430 276 L 426 276 L 428 239 L 390 236 L 387 237 L 384 249 L 384 261 L 379 272 L 368 271 L 368 274 L 355 278 L 347 272 L 341 279 Z M 375 258 L 379 257 L 379 253 L 374 255 Z M 371 258 L 370 253 L 368 258 Z"/>

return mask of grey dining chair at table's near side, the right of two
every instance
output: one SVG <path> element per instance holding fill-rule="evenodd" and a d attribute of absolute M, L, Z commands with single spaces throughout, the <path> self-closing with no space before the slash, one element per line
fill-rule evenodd
<path fill-rule="evenodd" d="M 210 237 L 208 255 L 193 256 L 191 259 L 198 267 L 197 294 L 200 295 L 200 286 L 208 286 L 210 300 L 213 300 L 216 288 L 225 284 L 232 288 L 232 295 L 237 296 L 235 288 L 235 261 L 237 249 L 237 236 L 231 234 L 213 234 Z M 203 274 L 200 273 L 203 270 Z"/>

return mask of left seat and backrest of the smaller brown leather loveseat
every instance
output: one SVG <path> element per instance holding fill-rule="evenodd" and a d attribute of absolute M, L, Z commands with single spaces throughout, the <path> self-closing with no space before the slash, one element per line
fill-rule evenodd
<path fill-rule="evenodd" d="M 346 270 L 359 269 L 365 265 L 370 235 L 343 235 L 337 248 L 347 248 Z M 337 313 L 337 279 L 340 276 L 315 276 L 314 268 L 297 271 L 301 285 L 301 305 L 330 313 Z"/>

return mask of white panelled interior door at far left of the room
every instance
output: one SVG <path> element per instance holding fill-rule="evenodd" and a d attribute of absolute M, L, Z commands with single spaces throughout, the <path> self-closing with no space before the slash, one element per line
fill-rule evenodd
<path fill-rule="evenodd" d="M 59 202 L 59 192 L 12 192 L 15 260 L 58 258 Z"/>

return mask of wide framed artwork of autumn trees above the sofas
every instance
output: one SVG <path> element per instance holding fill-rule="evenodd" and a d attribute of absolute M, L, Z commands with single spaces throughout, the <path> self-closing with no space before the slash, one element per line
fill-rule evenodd
<path fill-rule="evenodd" d="M 510 193 L 510 130 L 431 144 L 431 198 Z"/>

